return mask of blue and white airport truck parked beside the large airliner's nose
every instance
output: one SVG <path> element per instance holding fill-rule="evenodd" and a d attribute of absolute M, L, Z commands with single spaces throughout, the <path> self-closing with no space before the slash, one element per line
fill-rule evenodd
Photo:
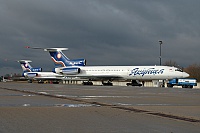
<path fill-rule="evenodd" d="M 189 78 L 169 80 L 169 82 L 167 83 L 167 87 L 173 87 L 173 86 L 182 86 L 182 88 L 193 88 L 194 86 L 197 86 L 197 80 Z"/>

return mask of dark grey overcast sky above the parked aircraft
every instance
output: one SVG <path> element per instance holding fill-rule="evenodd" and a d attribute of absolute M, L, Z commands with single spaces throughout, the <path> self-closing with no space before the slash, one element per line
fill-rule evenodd
<path fill-rule="evenodd" d="M 200 0 L 1 0 L 0 75 L 29 59 L 51 71 L 49 53 L 67 47 L 87 65 L 200 64 Z"/>

